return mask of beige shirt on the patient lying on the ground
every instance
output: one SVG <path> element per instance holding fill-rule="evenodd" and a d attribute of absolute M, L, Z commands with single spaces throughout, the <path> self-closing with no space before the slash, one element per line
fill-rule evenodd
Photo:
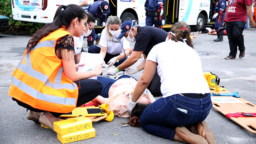
<path fill-rule="evenodd" d="M 129 95 L 134 91 L 136 84 L 137 81 L 130 77 L 119 79 L 110 87 L 108 109 L 112 110 L 115 116 L 130 117 L 127 111 L 127 102 L 130 100 Z M 140 98 L 148 98 L 151 103 L 156 101 L 148 89 L 143 92 Z"/>

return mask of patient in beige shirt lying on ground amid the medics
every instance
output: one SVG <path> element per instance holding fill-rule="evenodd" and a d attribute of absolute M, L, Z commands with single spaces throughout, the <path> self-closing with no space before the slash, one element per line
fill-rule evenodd
<path fill-rule="evenodd" d="M 98 76 L 97 78 L 103 85 L 101 96 L 97 96 L 94 100 L 100 104 L 108 103 L 108 109 L 112 110 L 115 116 L 130 117 L 127 111 L 127 102 L 131 98 L 131 93 L 137 84 L 137 80 L 128 75 L 120 74 L 116 80 Z M 148 89 L 140 95 L 136 111 L 143 111 L 149 104 L 155 102 L 153 95 Z"/>

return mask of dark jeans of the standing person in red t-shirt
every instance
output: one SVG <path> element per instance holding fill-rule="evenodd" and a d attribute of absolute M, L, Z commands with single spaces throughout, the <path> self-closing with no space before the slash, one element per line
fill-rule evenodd
<path fill-rule="evenodd" d="M 237 53 L 237 46 L 240 52 L 245 51 L 244 47 L 244 26 L 246 22 L 244 21 L 230 21 L 226 22 L 225 27 L 228 35 L 228 43 L 229 43 L 229 55 L 235 56 Z"/>

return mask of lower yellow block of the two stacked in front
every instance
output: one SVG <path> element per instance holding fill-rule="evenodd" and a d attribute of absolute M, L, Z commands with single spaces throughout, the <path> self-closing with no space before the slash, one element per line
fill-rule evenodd
<path fill-rule="evenodd" d="M 95 129 L 89 128 L 78 132 L 72 132 L 65 135 L 60 135 L 57 133 L 57 138 L 61 143 L 69 143 L 78 140 L 85 140 L 95 137 Z"/>

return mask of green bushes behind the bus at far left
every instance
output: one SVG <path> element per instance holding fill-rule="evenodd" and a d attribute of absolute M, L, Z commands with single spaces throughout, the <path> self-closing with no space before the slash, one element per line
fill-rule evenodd
<path fill-rule="evenodd" d="M 15 2 L 15 0 L 14 0 Z M 0 14 L 9 17 L 10 28 L 7 32 L 29 32 L 35 33 L 37 29 L 44 26 L 43 23 L 22 23 L 18 20 L 13 20 L 12 18 L 12 0 L 0 0 Z"/>

